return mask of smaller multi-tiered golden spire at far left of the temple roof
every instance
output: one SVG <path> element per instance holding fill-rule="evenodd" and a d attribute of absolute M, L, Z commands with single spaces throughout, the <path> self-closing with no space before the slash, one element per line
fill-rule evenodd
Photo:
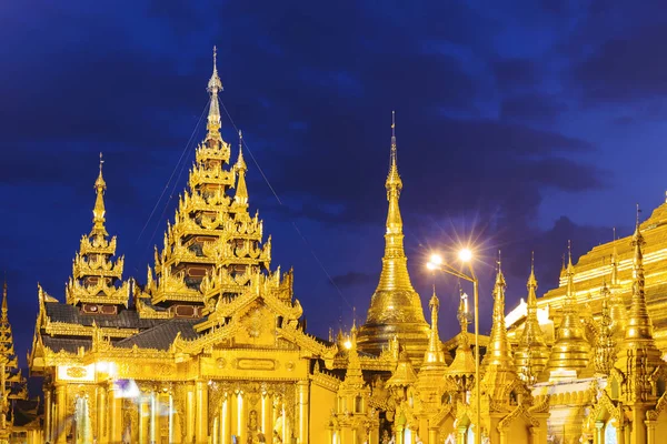
<path fill-rule="evenodd" d="M 113 261 L 116 236 L 109 239 L 107 232 L 103 163 L 100 153 L 100 171 L 94 181 L 92 230 L 81 238 L 79 252 L 72 264 L 72 275 L 64 287 L 67 303 L 82 304 L 83 311 L 89 314 L 115 314 L 119 305 L 128 305 L 130 295 L 128 282 L 121 283 L 125 259 L 120 256 Z"/>

